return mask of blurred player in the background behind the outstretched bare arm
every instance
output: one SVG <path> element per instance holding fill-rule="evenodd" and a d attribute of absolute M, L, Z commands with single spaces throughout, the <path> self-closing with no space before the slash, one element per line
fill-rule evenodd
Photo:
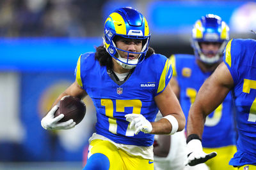
<path fill-rule="evenodd" d="M 186 118 L 201 85 L 222 61 L 228 38 L 228 25 L 217 15 L 205 15 L 195 22 L 192 31 L 191 44 L 195 56 L 172 55 L 173 78 L 170 82 Z M 223 103 L 206 118 L 202 136 L 204 151 L 218 152 L 218 157 L 206 163 L 211 170 L 234 169 L 228 166 L 228 161 L 236 152 L 233 114 L 229 93 Z"/>

